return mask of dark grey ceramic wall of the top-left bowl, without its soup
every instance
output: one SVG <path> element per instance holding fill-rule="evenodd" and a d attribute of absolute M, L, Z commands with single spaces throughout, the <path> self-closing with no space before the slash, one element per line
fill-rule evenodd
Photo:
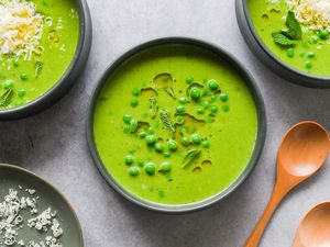
<path fill-rule="evenodd" d="M 15 120 L 41 112 L 65 96 L 87 64 L 91 46 L 91 18 L 86 0 L 76 0 L 79 15 L 79 38 L 72 63 L 62 78 L 43 96 L 22 106 L 0 110 L 0 121 Z"/>

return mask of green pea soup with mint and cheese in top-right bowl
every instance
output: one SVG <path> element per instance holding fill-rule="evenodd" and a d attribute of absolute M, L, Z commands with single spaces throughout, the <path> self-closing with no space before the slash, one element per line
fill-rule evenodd
<path fill-rule="evenodd" d="M 248 4 L 257 35 L 275 57 L 299 71 L 330 77 L 330 23 L 319 23 L 321 18 L 317 2 L 320 1 L 327 2 L 248 0 Z M 289 13 L 297 20 L 301 35 L 290 35 L 288 32 Z M 278 42 L 275 42 L 274 35 Z"/>

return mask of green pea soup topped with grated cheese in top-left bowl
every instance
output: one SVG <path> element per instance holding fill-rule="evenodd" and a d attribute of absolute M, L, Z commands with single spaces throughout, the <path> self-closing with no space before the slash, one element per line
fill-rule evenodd
<path fill-rule="evenodd" d="M 76 52 L 79 20 L 75 0 L 1 0 L 1 8 L 11 11 L 10 19 L 19 19 L 13 38 L 22 43 L 0 44 L 0 110 L 4 110 L 37 99 L 62 78 Z M 28 24 L 31 20 L 34 25 Z M 30 34 L 22 42 L 24 32 Z"/>

